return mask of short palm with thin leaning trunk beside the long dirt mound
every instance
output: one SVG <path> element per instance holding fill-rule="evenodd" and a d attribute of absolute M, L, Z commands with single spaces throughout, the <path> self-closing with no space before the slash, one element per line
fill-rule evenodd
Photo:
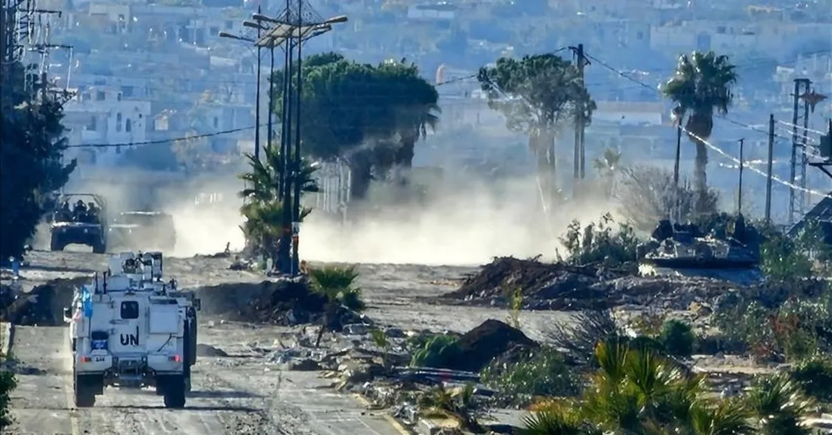
<path fill-rule="evenodd" d="M 330 266 L 310 270 L 312 290 L 325 299 L 324 315 L 321 317 L 318 338 L 314 343 L 315 348 L 319 346 L 324 330 L 329 328 L 340 305 L 355 311 L 364 308 L 364 303 L 361 302 L 361 289 L 355 286 L 355 280 L 358 278 L 359 273 L 354 266 L 347 268 Z"/>

